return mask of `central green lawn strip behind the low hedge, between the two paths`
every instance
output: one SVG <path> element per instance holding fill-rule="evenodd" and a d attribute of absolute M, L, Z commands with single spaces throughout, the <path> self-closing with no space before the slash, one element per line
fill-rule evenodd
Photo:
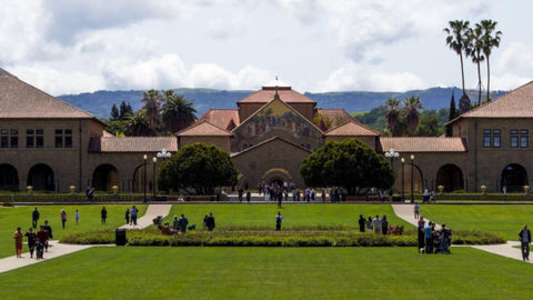
<path fill-rule="evenodd" d="M 399 219 L 389 204 L 175 204 L 167 218 L 184 213 L 190 223 L 201 227 L 203 217 L 213 212 L 218 227 L 224 226 L 271 226 L 275 227 L 275 214 L 283 214 L 283 227 L 293 226 L 348 226 L 356 228 L 359 214 L 372 219 L 385 214 L 390 224 L 411 227 Z"/>

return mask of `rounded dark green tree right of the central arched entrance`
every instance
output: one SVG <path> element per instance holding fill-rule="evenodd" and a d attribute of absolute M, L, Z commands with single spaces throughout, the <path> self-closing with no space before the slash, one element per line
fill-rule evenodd
<path fill-rule="evenodd" d="M 394 172 L 384 156 L 356 139 L 330 141 L 306 157 L 300 173 L 310 187 L 342 187 L 349 194 L 389 189 Z"/>

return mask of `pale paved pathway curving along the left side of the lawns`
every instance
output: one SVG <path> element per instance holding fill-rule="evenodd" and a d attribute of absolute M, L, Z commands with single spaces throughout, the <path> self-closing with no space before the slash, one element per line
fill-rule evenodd
<path fill-rule="evenodd" d="M 137 226 L 122 226 L 121 228 L 125 229 L 143 229 L 152 224 L 153 218 L 158 216 L 165 217 L 170 212 L 171 204 L 150 204 L 145 213 L 139 218 Z M 48 252 L 44 252 L 43 260 L 30 259 L 30 253 L 22 253 L 22 258 L 9 257 L 0 259 L 0 273 L 7 272 L 13 269 L 22 268 L 29 264 L 39 263 L 47 261 L 53 258 L 62 257 L 70 254 L 80 250 L 84 250 L 91 247 L 111 247 L 112 244 L 67 244 L 60 243 L 59 241 L 50 241 L 50 247 Z M 26 246 L 24 246 L 26 247 Z"/>

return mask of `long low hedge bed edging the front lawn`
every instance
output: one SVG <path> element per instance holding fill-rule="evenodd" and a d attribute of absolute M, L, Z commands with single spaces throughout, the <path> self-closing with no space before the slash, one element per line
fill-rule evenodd
<path fill-rule="evenodd" d="M 234 229 L 234 228 L 233 228 Z M 242 229 L 242 228 L 240 228 Z M 302 229 L 302 228 L 300 228 Z M 223 229 L 215 232 L 191 231 L 180 236 L 163 236 L 157 229 L 129 230 L 129 246 L 217 246 L 217 247 L 415 247 L 414 231 L 404 236 L 378 236 L 355 231 L 242 231 Z M 504 243 L 501 233 L 454 231 L 453 244 Z M 64 236 L 64 243 L 114 243 L 113 231 L 94 231 Z"/>

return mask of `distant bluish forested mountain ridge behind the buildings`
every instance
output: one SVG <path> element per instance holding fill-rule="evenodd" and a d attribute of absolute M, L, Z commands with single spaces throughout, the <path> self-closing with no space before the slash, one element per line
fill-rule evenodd
<path fill-rule="evenodd" d="M 237 108 L 235 102 L 254 91 L 247 90 L 213 90 L 213 89 L 175 89 L 177 93 L 192 100 L 198 116 L 210 108 Z M 369 91 L 340 91 L 340 92 L 304 92 L 305 96 L 316 100 L 320 108 L 343 108 L 348 112 L 368 111 L 382 106 L 383 102 L 395 97 L 399 100 L 409 96 L 418 96 L 425 109 L 440 109 L 450 106 L 450 97 L 455 92 L 455 103 L 461 97 L 457 88 L 431 88 L 426 90 L 412 90 L 406 92 L 369 92 Z M 494 91 L 497 98 L 506 91 Z M 476 92 L 469 91 L 472 102 L 475 102 Z M 81 108 L 99 118 L 109 118 L 111 107 L 119 106 L 121 101 L 130 102 L 134 109 L 141 107 L 142 90 L 130 91 L 95 91 L 80 94 L 63 94 L 58 98 Z"/>

